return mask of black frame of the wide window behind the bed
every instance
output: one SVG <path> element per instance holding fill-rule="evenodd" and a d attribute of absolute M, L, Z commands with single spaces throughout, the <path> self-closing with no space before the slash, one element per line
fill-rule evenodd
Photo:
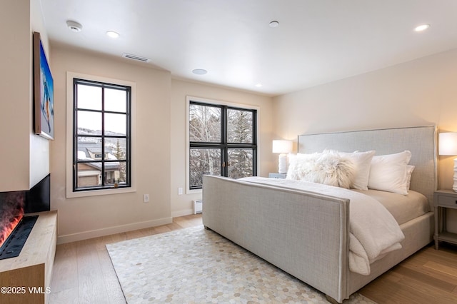
<path fill-rule="evenodd" d="M 229 150 L 231 149 L 252 149 L 252 176 L 257 176 L 257 110 L 255 108 L 241 108 L 237 106 L 230 106 L 216 103 L 206 103 L 203 101 L 189 100 L 189 107 L 194 104 L 197 106 L 211 106 L 215 108 L 221 108 L 221 142 L 201 142 L 201 141 L 190 141 L 189 139 L 189 156 L 191 149 L 193 148 L 207 148 L 207 149 L 220 149 L 221 150 L 221 176 L 229 176 Z M 252 113 L 252 143 L 229 143 L 228 141 L 228 111 L 246 111 Z M 190 160 L 189 160 L 190 161 Z M 191 178 L 191 168 L 189 166 L 189 181 Z M 191 186 L 189 183 L 189 190 L 198 190 L 203 186 Z"/>

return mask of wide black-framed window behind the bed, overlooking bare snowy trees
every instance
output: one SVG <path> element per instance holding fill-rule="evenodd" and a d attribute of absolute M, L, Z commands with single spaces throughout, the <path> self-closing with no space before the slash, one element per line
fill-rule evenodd
<path fill-rule="evenodd" d="M 189 189 L 204 174 L 257 175 L 257 111 L 189 100 Z"/>

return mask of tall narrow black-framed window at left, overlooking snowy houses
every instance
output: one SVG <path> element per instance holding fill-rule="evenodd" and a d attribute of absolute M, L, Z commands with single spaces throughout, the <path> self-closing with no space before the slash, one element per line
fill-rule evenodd
<path fill-rule="evenodd" d="M 73 78 L 73 191 L 131 187 L 131 86 Z"/>

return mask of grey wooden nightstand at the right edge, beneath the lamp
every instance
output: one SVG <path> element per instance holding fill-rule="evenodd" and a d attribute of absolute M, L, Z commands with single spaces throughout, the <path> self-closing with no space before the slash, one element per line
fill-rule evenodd
<path fill-rule="evenodd" d="M 450 233 L 446 228 L 447 208 L 457 209 L 457 193 L 452 190 L 437 190 L 433 195 L 435 204 L 435 249 L 438 250 L 440 240 L 457 244 L 457 233 Z"/>

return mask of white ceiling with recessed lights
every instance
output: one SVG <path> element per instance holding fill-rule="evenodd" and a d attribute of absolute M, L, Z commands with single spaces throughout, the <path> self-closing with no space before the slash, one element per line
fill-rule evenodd
<path fill-rule="evenodd" d="M 40 1 L 51 46 L 133 54 L 174 78 L 268 96 L 457 48 L 456 0 Z"/>

